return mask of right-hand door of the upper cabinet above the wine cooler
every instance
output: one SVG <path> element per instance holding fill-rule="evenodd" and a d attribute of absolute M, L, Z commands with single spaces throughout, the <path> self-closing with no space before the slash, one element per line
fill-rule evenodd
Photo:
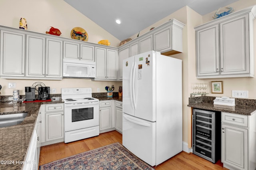
<path fill-rule="evenodd" d="M 250 73 L 249 39 L 248 14 L 220 23 L 221 75 Z"/>

